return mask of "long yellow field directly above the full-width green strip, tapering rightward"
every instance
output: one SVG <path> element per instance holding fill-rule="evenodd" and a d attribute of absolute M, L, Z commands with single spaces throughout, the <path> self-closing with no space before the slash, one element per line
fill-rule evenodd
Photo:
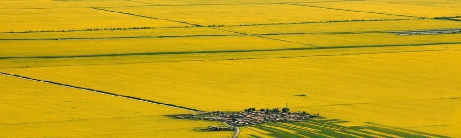
<path fill-rule="evenodd" d="M 172 38 L 4 40 L 2 57 L 72 56 L 158 52 L 200 52 L 311 47 L 254 36 L 209 36 Z M 30 49 L 33 45 L 34 49 Z M 37 51 L 38 50 L 38 51 Z"/>

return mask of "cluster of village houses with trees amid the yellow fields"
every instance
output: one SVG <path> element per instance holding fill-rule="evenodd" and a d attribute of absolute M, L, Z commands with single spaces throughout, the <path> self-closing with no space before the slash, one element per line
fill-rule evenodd
<path fill-rule="evenodd" d="M 240 112 L 207 112 L 202 114 L 187 114 L 177 116 L 178 119 L 221 121 L 232 126 L 256 125 L 268 122 L 295 122 L 308 120 L 309 114 L 297 112 L 266 112 L 266 111 L 240 111 Z"/>

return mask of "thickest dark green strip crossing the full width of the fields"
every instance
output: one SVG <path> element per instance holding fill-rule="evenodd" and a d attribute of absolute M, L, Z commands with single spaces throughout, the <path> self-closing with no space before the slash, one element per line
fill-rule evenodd
<path fill-rule="evenodd" d="M 439 42 L 439 43 L 416 43 L 416 44 L 382 44 L 382 45 L 349 45 L 332 47 L 301 47 L 286 49 L 260 49 L 260 50 L 230 50 L 230 51 L 184 51 L 184 52 L 152 52 L 152 53 L 119 53 L 99 55 L 70 55 L 70 56 L 24 56 L 24 57 L 0 57 L 0 59 L 19 58 L 78 58 L 78 57 L 108 57 L 108 56 L 137 56 L 137 55 L 173 55 L 173 54 L 200 54 L 200 53 L 240 53 L 240 52 L 261 52 L 261 51 L 295 51 L 295 50 L 322 50 L 322 49 L 351 49 L 351 48 L 376 48 L 376 47 L 417 47 L 421 45 L 460 44 L 461 42 Z"/>

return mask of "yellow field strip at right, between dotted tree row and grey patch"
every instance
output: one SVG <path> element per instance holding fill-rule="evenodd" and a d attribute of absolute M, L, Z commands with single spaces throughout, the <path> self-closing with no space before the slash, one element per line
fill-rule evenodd
<path fill-rule="evenodd" d="M 328 22 L 321 24 L 292 24 L 273 26 L 239 26 L 222 27 L 226 30 L 247 34 L 270 33 L 360 33 L 373 31 L 406 31 L 424 29 L 461 28 L 461 22 L 451 20 L 417 19 L 417 20 L 385 20 Z"/>

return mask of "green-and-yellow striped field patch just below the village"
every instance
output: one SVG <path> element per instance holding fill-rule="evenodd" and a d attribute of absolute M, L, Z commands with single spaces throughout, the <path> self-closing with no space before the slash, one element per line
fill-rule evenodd
<path fill-rule="evenodd" d="M 339 124 L 347 122 L 349 121 L 339 119 L 312 119 L 301 122 L 267 123 L 252 127 L 270 132 L 266 135 L 272 137 L 446 137 L 370 122 L 366 123 L 369 125 L 361 126 Z"/>

